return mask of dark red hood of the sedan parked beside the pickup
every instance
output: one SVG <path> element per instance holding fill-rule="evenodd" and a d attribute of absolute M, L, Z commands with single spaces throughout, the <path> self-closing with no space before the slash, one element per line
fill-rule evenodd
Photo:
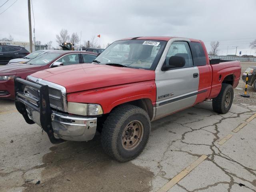
<path fill-rule="evenodd" d="M 12 72 L 22 72 L 39 69 L 40 65 L 30 65 L 30 64 L 13 64 L 5 65 L 0 68 L 0 73 L 12 73 Z"/>

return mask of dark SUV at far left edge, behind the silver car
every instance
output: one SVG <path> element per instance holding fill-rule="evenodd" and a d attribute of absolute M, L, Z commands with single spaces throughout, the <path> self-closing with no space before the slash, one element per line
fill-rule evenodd
<path fill-rule="evenodd" d="M 21 46 L 0 45 L 0 64 L 5 65 L 11 59 L 23 58 L 29 52 Z"/>

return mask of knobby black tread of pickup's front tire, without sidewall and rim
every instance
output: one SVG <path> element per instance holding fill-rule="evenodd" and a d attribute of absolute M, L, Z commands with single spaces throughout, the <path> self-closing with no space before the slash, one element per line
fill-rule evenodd
<path fill-rule="evenodd" d="M 124 104 L 116 107 L 112 112 L 110 112 L 108 118 L 104 122 L 102 133 L 101 133 L 102 148 L 109 156 L 111 156 L 112 158 L 114 158 L 119 162 L 126 162 L 128 160 L 135 158 L 135 157 L 132 157 L 130 159 L 122 158 L 117 151 L 116 140 L 118 137 L 118 128 L 122 126 L 122 123 L 130 115 L 138 114 L 138 113 L 143 114 L 148 119 L 148 122 L 150 122 L 150 118 L 145 110 L 143 110 L 138 106 L 134 106 L 130 104 Z M 149 128 L 151 129 L 151 124 L 149 123 L 149 125 L 150 125 Z M 136 156 L 138 156 L 139 154 L 140 153 L 138 153 Z"/>

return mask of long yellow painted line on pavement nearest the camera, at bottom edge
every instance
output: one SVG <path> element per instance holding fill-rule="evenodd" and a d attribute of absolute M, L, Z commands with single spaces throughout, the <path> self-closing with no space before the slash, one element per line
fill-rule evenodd
<path fill-rule="evenodd" d="M 160 188 L 157 192 L 167 192 L 170 188 L 172 188 L 175 184 L 177 184 L 182 178 L 184 178 L 190 171 L 196 168 L 200 163 L 202 163 L 208 156 L 202 155 L 200 158 L 192 162 L 187 168 L 182 170 L 178 175 L 176 175 L 172 180 L 166 183 L 162 188 Z"/>

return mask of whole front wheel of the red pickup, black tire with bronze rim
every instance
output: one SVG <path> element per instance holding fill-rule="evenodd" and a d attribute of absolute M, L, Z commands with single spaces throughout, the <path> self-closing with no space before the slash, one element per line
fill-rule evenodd
<path fill-rule="evenodd" d="M 145 110 L 128 104 L 118 106 L 103 125 L 102 148 L 119 162 L 132 160 L 145 148 L 150 129 L 150 118 Z"/>

